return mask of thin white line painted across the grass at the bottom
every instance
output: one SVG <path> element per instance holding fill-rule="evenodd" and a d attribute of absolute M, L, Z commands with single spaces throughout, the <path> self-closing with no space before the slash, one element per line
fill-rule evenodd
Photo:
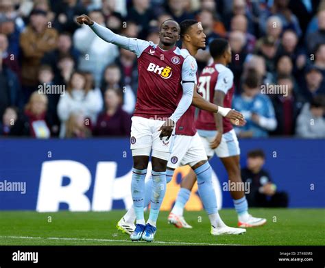
<path fill-rule="evenodd" d="M 145 241 L 130 241 L 130 240 L 118 240 L 118 239 L 76 239 L 68 237 L 36 237 L 36 236 L 0 236 L 0 238 L 6 239 L 51 239 L 51 240 L 73 240 L 73 241 L 104 241 L 104 242 L 126 242 L 126 243 L 147 243 Z M 166 242 L 166 241 L 154 241 L 152 243 L 157 244 L 173 244 L 173 245 L 238 245 L 238 244 L 211 244 L 211 243 L 190 243 L 190 242 Z"/>

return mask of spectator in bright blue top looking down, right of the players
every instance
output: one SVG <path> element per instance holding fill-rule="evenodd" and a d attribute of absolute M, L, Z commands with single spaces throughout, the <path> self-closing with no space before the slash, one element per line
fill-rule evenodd
<path fill-rule="evenodd" d="M 248 71 L 243 80 L 243 93 L 235 96 L 232 108 L 241 112 L 247 123 L 234 130 L 241 138 L 267 137 L 276 129 L 276 117 L 269 97 L 261 94 L 261 77 L 254 69 Z"/>

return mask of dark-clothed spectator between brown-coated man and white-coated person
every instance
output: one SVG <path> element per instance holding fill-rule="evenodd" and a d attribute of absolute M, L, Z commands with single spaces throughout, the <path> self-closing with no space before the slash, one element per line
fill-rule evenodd
<path fill-rule="evenodd" d="M 42 58 L 42 64 L 51 66 L 55 74 L 55 80 L 60 80 L 60 70 L 58 69 L 58 59 L 64 56 L 71 56 L 77 65 L 79 52 L 73 47 L 71 34 L 69 32 L 62 32 L 58 37 L 58 46 L 55 50 L 45 53 Z"/>

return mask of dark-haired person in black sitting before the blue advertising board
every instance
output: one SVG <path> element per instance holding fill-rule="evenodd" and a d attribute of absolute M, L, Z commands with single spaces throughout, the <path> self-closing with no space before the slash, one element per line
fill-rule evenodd
<path fill-rule="evenodd" d="M 263 169 L 265 154 L 261 149 L 249 151 L 247 167 L 241 169 L 243 182 L 250 184 L 250 193 L 246 195 L 250 207 L 286 208 L 289 197 L 284 191 L 276 191 L 269 173 Z"/>

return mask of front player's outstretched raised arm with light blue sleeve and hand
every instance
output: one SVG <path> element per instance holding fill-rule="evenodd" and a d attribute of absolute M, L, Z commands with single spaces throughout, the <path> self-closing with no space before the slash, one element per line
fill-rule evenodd
<path fill-rule="evenodd" d="M 95 34 L 97 34 L 97 36 L 99 36 L 104 41 L 111 42 L 112 44 L 119 47 L 123 47 L 123 49 L 128 49 L 134 52 L 138 57 L 141 55 L 143 50 L 145 50 L 145 48 L 147 48 L 150 43 L 152 43 L 145 40 L 128 38 L 125 36 L 120 36 L 119 34 L 115 34 L 110 29 L 103 27 L 98 23 L 95 23 L 95 21 L 92 21 L 91 18 L 89 18 L 87 15 L 78 16 L 77 23 L 88 25 L 91 27 L 91 29 L 93 29 L 93 32 L 95 32 Z M 152 45 L 154 44 L 152 43 Z"/>

